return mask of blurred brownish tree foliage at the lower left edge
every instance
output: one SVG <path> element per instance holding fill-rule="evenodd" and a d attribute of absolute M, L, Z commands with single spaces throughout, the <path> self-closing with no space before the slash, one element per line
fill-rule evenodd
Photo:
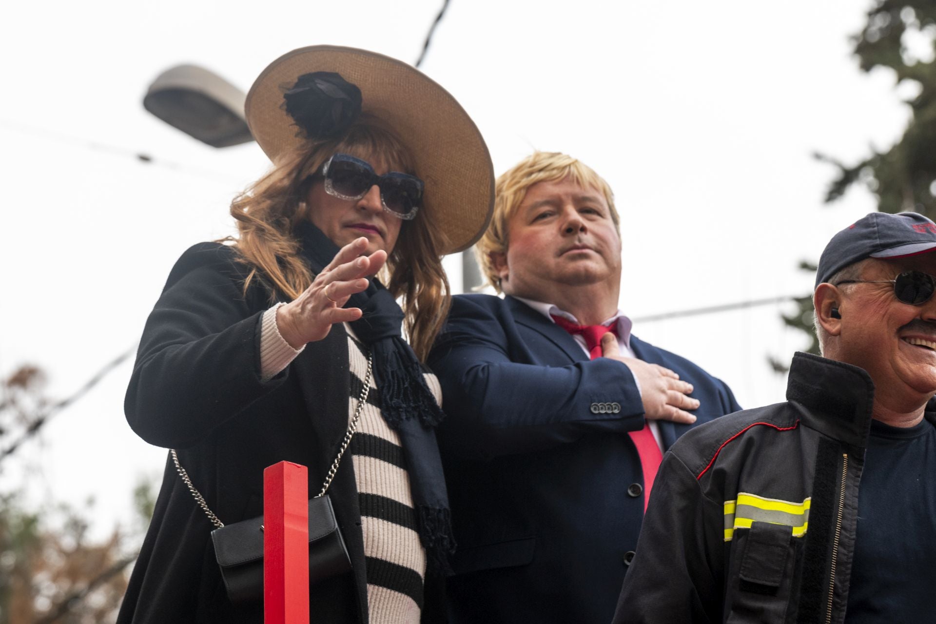
<path fill-rule="evenodd" d="M 46 397 L 46 375 L 22 366 L 0 379 L 0 470 L 22 470 L 13 451 L 48 422 L 55 403 Z M 41 460 L 41 457 L 40 457 Z M 0 624 L 100 624 L 113 621 L 126 589 L 126 571 L 136 559 L 137 536 L 113 530 L 88 537 L 90 511 L 65 504 L 24 501 L 25 486 L 0 493 Z M 145 520 L 153 513 L 146 484 L 133 493 Z M 35 506 L 35 503 L 34 505 Z"/>

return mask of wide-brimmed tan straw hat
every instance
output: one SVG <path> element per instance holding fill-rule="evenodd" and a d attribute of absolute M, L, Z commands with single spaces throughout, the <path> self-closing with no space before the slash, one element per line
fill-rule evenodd
<path fill-rule="evenodd" d="M 312 72 L 335 72 L 357 85 L 361 112 L 386 124 L 413 154 L 417 175 L 426 183 L 426 210 L 433 211 L 446 236 L 443 253 L 473 245 L 493 210 L 488 146 L 455 98 L 412 65 L 339 46 L 300 48 L 273 61 L 254 81 L 244 105 L 247 124 L 271 161 L 309 140 L 285 110 L 284 88 Z"/>

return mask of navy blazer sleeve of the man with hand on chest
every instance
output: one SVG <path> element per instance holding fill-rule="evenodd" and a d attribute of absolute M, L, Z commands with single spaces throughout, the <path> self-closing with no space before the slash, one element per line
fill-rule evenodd
<path fill-rule="evenodd" d="M 447 451 L 490 459 L 574 442 L 588 431 L 643 427 L 640 393 L 621 362 L 538 366 L 513 361 L 511 349 L 490 310 L 455 297 L 429 356 L 445 399 L 439 436 Z M 619 412 L 600 412 L 600 406 L 615 404 Z"/>

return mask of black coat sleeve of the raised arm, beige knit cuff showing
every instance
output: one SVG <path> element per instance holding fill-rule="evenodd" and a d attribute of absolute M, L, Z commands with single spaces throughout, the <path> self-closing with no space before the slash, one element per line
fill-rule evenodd
<path fill-rule="evenodd" d="M 130 427 L 157 446 L 192 446 L 283 383 L 260 377 L 259 322 L 223 245 L 189 249 L 140 339 L 124 399 Z"/>

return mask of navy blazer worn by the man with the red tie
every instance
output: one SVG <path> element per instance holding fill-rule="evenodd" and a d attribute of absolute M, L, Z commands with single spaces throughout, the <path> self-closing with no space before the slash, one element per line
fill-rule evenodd
<path fill-rule="evenodd" d="M 665 448 L 740 409 L 724 382 L 632 336 L 637 357 L 695 386 L 694 425 L 659 421 Z M 454 622 L 607 624 L 643 518 L 643 428 L 634 376 L 513 297 L 462 295 L 429 356 L 446 421 L 438 429 L 459 544 Z M 619 403 L 617 414 L 600 404 Z M 595 406 L 598 404 L 598 406 Z M 598 414 L 595 414 L 598 412 Z"/>

